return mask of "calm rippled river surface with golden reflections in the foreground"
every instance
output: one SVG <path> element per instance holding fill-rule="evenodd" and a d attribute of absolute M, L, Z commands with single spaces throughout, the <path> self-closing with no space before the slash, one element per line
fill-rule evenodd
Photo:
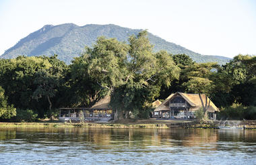
<path fill-rule="evenodd" d="M 256 130 L 0 128 L 0 164 L 256 164 Z"/>

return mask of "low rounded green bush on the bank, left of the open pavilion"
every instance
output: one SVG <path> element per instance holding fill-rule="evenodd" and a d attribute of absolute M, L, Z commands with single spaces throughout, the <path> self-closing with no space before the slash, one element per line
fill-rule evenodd
<path fill-rule="evenodd" d="M 31 109 L 17 109 L 15 120 L 18 122 L 32 122 L 36 121 L 37 114 Z"/>

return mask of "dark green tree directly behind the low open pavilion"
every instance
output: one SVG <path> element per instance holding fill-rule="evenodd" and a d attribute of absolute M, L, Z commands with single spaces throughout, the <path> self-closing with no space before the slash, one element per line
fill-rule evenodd
<path fill-rule="evenodd" d="M 97 80 L 88 73 L 88 56 L 84 54 L 73 60 L 70 65 L 70 88 L 67 91 L 69 106 L 91 107 L 106 95 L 108 89 L 102 89 Z"/>

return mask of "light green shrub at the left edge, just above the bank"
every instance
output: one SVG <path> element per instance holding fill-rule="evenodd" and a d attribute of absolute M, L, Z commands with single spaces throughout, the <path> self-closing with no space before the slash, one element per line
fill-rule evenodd
<path fill-rule="evenodd" d="M 16 115 L 13 105 L 8 105 L 5 90 L 0 86 L 0 119 L 10 119 Z"/>

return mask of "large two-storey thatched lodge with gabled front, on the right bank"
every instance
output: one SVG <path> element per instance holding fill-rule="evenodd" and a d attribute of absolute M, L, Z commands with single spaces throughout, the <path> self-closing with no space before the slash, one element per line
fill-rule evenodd
<path fill-rule="evenodd" d="M 201 99 L 205 104 L 205 94 L 201 94 Z M 156 107 L 154 117 L 193 119 L 195 111 L 202 107 L 201 99 L 198 94 L 172 93 L 161 105 Z M 210 101 L 208 97 L 206 99 L 207 102 Z M 207 109 L 207 112 L 210 113 L 210 118 L 216 119 L 216 111 L 219 111 L 219 109 L 210 101 L 210 106 Z"/>

